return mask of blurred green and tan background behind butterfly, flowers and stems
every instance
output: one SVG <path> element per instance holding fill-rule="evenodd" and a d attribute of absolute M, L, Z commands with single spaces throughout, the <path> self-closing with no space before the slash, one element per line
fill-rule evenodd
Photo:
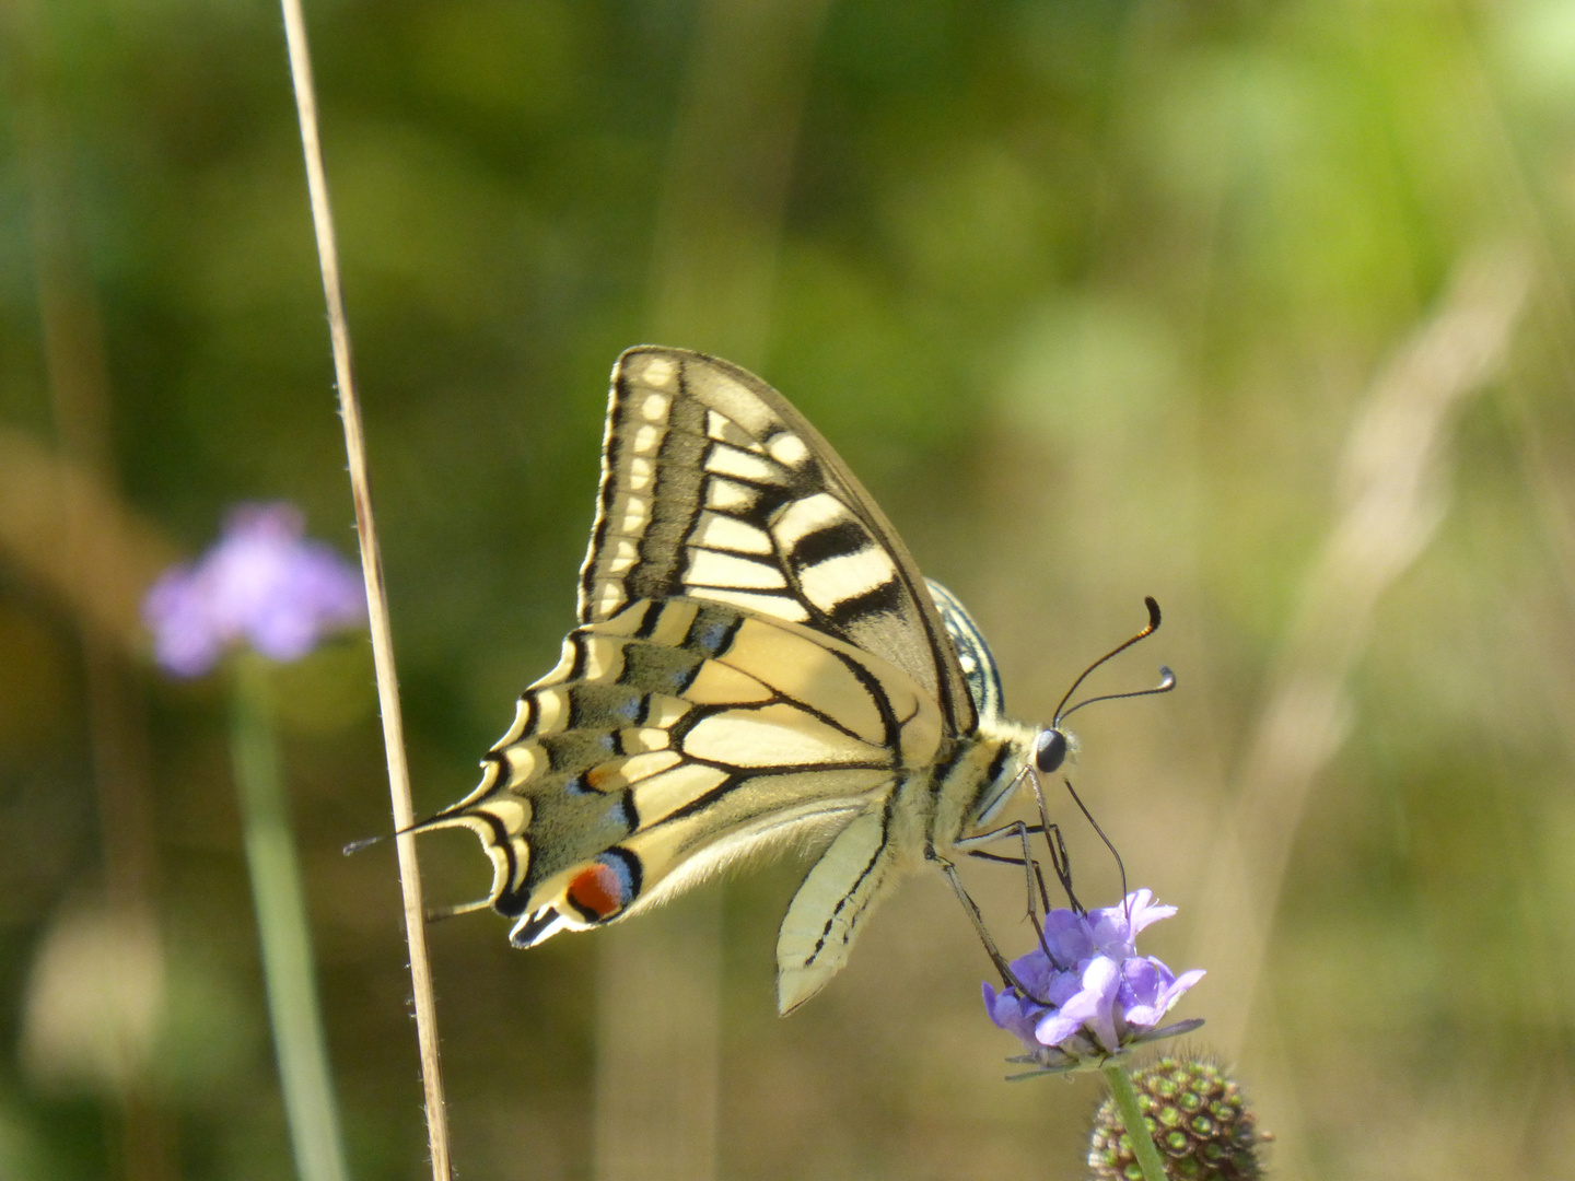
<path fill-rule="evenodd" d="M 1210 970 L 1178 1016 L 1280 1176 L 1570 1175 L 1575 5 L 307 16 L 419 813 L 556 660 L 614 356 L 718 351 L 970 605 L 1014 715 L 1164 605 L 1099 683 L 1181 688 L 1079 715 L 1077 784 L 1181 905 L 1150 950 Z M 353 546 L 279 13 L 0 31 L 0 1176 L 287 1178 L 224 687 L 135 617 L 236 501 Z M 339 853 L 389 827 L 365 642 L 279 682 L 353 1172 L 419 1178 L 392 850 Z M 422 857 L 485 888 L 469 836 Z M 1077 1176 L 1098 1087 L 1000 1082 L 939 876 L 775 1016 L 800 874 L 532 953 L 435 926 L 460 1175 Z M 970 880 L 1025 950 L 1019 882 Z M 628 975 L 665 948 L 671 1006 Z"/>

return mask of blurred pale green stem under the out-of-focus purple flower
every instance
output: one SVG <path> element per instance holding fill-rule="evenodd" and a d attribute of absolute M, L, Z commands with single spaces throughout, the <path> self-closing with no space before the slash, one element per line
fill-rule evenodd
<path fill-rule="evenodd" d="M 317 1003 L 301 866 L 279 767 L 268 661 L 244 652 L 235 658 L 233 671 L 230 748 L 296 1173 L 301 1181 L 346 1181 L 350 1170 Z"/>

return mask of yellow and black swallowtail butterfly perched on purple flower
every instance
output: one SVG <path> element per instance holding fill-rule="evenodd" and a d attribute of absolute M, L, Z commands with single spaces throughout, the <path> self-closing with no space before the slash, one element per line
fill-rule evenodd
<path fill-rule="evenodd" d="M 476 790 L 419 825 L 480 836 L 491 891 L 460 910 L 507 915 L 515 946 L 830 836 L 776 943 L 788 1013 L 898 877 L 956 885 L 950 858 L 1068 750 L 1003 716 L 978 627 L 814 427 L 699 353 L 613 368 L 578 617 Z"/>

